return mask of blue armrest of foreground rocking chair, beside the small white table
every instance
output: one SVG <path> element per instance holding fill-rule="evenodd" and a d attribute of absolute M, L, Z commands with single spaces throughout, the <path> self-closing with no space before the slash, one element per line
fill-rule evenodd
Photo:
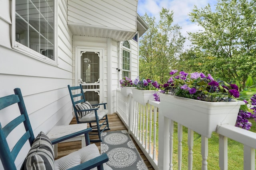
<path fill-rule="evenodd" d="M 52 145 L 54 145 L 56 143 L 65 141 L 65 140 L 70 139 L 72 137 L 76 137 L 76 136 L 84 134 L 85 135 L 85 140 L 86 140 L 86 145 L 89 145 L 90 144 L 89 132 L 91 132 L 91 131 L 92 131 L 92 128 L 87 128 L 87 129 L 84 129 L 82 131 L 78 131 L 78 132 L 71 133 L 69 135 L 65 135 L 63 137 L 59 137 L 57 139 L 54 139 L 53 141 L 51 141 L 51 143 L 52 143 Z"/>

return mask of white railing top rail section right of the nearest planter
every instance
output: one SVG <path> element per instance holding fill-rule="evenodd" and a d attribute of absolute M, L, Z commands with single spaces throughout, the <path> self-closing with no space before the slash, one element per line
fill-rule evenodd
<path fill-rule="evenodd" d="M 229 124 L 217 125 L 216 133 L 256 149 L 256 133 Z"/>

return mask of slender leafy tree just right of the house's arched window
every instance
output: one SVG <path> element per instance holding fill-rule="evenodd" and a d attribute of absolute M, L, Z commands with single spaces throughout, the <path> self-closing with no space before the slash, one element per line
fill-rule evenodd
<path fill-rule="evenodd" d="M 147 14 L 142 18 L 148 23 L 148 31 L 140 39 L 140 77 L 166 82 L 170 67 L 182 53 L 185 37 L 179 25 L 173 25 L 173 12 L 162 8 L 160 21 Z"/>

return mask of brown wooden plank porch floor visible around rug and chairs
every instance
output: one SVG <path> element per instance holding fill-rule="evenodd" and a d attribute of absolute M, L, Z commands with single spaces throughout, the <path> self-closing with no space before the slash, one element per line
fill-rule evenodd
<path fill-rule="evenodd" d="M 124 130 L 124 129 L 127 130 L 127 128 L 125 127 L 125 125 L 123 124 L 123 122 L 121 121 L 121 119 L 118 117 L 118 115 L 116 113 L 114 113 L 112 115 L 108 115 L 108 123 L 109 123 L 110 129 L 111 129 L 110 131 L 118 131 L 118 130 Z M 72 119 L 70 124 L 76 124 L 75 117 Z M 131 138 L 132 138 L 132 136 L 131 136 Z M 93 139 L 93 136 L 90 136 L 90 139 Z M 146 156 L 144 155 L 142 150 L 140 150 L 140 147 L 138 147 L 138 145 L 136 144 L 134 139 L 133 139 L 133 142 L 136 145 L 136 147 L 140 153 L 140 156 L 144 160 L 148 169 L 154 170 L 154 168 L 152 167 L 152 165 L 150 164 L 150 162 L 148 161 L 148 159 L 146 158 Z M 95 143 L 95 144 L 98 146 L 98 149 L 100 150 L 100 142 Z M 59 143 L 58 144 L 58 158 L 65 156 L 67 154 L 70 154 L 71 152 L 74 152 L 78 149 L 81 149 L 81 141 Z"/>

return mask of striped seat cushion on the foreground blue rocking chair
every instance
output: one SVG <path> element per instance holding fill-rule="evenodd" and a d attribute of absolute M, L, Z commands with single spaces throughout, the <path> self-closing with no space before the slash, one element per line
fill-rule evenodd
<path fill-rule="evenodd" d="M 76 152 L 72 152 L 71 154 L 55 160 L 55 170 L 66 170 L 83 162 L 96 158 L 97 156 L 100 156 L 100 152 L 98 150 L 98 147 L 96 147 L 96 145 L 93 143 L 91 145 L 83 147 L 80 150 L 77 150 Z M 103 164 L 103 166 L 104 170 L 112 170 L 112 168 L 110 168 L 106 164 Z M 97 170 L 97 167 L 91 170 Z"/>

